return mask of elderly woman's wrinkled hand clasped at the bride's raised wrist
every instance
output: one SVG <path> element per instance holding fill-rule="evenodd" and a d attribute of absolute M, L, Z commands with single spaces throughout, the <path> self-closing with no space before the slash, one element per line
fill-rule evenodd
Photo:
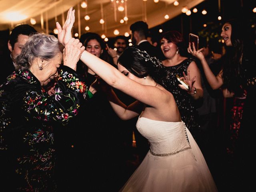
<path fill-rule="evenodd" d="M 79 39 L 71 38 L 63 50 L 64 65 L 76 71 L 76 64 L 84 50 L 85 47 L 82 46 L 82 43 L 79 41 Z"/>

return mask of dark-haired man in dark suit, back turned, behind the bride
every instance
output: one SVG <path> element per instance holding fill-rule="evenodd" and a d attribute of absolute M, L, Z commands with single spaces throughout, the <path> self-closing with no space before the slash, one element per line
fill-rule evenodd
<path fill-rule="evenodd" d="M 130 26 L 132 43 L 145 50 L 150 56 L 159 60 L 165 60 L 165 56 L 160 48 L 157 48 L 148 42 L 148 24 L 143 21 L 137 21 Z"/>

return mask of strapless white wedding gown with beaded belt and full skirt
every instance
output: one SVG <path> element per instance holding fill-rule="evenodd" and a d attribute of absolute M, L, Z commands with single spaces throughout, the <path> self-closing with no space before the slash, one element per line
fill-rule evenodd
<path fill-rule="evenodd" d="M 183 122 L 138 118 L 150 151 L 120 192 L 216 192 L 204 156 Z"/>

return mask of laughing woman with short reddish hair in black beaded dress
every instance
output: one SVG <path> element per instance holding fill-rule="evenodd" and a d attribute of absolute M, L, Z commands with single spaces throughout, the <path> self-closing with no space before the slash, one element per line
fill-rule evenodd
<path fill-rule="evenodd" d="M 192 58 L 180 55 L 182 51 L 183 37 L 178 31 L 168 31 L 162 35 L 161 50 L 167 58 L 162 61 L 162 84 L 170 91 L 176 101 L 182 120 L 195 139 L 199 131 L 197 112 L 194 100 L 203 96 L 200 81 L 200 71 Z M 180 76 L 190 87 L 187 90 L 182 86 L 176 75 Z"/>

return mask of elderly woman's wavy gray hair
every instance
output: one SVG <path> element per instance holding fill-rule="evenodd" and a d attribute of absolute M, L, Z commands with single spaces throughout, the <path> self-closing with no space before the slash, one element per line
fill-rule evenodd
<path fill-rule="evenodd" d="M 63 51 L 64 46 L 53 35 L 36 33 L 30 35 L 20 54 L 16 57 L 16 70 L 28 69 L 35 58 L 50 60 L 58 52 Z"/>

